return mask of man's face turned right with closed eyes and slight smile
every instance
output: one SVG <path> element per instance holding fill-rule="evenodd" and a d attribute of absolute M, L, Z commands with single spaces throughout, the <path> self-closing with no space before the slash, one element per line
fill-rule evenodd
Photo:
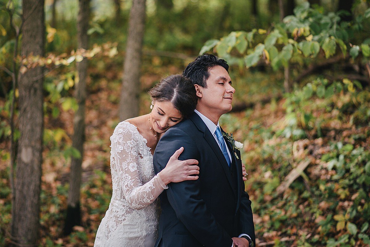
<path fill-rule="evenodd" d="M 198 86 L 198 104 L 220 115 L 231 111 L 235 89 L 231 86 L 231 78 L 225 68 L 219 65 L 211 68 L 206 83 L 207 88 Z"/>

